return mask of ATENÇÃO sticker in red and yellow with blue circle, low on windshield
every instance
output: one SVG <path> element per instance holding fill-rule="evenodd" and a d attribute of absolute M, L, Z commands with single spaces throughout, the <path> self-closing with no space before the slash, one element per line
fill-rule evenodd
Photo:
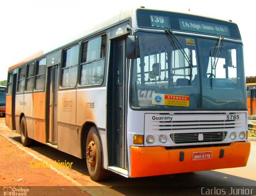
<path fill-rule="evenodd" d="M 188 95 L 176 95 L 176 94 L 152 94 L 152 104 L 164 105 L 164 106 L 182 106 L 189 107 Z"/>

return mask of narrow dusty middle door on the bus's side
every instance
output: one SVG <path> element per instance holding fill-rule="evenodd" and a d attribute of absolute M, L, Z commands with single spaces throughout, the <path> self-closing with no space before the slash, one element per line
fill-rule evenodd
<path fill-rule="evenodd" d="M 48 68 L 47 102 L 48 108 L 48 143 L 58 145 L 57 135 L 57 91 L 58 91 L 58 65 Z M 47 115 L 48 113 L 48 115 Z"/>

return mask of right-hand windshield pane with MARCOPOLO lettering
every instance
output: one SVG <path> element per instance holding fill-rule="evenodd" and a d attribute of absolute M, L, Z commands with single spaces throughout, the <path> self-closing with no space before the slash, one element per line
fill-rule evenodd
<path fill-rule="evenodd" d="M 244 60 L 241 44 L 224 39 L 198 38 L 202 107 L 246 108 Z"/>

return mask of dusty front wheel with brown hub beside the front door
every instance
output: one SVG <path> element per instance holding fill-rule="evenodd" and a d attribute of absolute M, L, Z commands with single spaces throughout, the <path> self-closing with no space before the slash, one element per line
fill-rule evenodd
<path fill-rule="evenodd" d="M 108 178 L 108 171 L 103 168 L 102 145 L 96 127 L 90 128 L 86 139 L 86 164 L 92 180 Z"/>

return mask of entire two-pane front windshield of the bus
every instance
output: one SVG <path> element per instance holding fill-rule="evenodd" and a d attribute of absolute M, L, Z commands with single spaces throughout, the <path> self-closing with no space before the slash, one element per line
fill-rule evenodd
<path fill-rule="evenodd" d="M 140 57 L 132 62 L 133 108 L 246 108 L 242 44 L 223 37 L 136 35 Z"/>

